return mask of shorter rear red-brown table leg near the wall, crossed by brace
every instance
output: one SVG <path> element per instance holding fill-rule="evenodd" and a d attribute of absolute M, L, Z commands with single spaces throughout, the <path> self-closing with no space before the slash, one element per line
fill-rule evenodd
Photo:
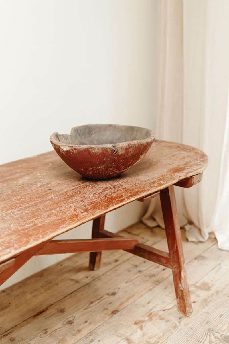
<path fill-rule="evenodd" d="M 105 214 L 93 220 L 92 238 L 99 238 L 99 232 L 104 229 Z M 90 252 L 89 269 L 98 270 L 100 268 L 102 252 Z"/>

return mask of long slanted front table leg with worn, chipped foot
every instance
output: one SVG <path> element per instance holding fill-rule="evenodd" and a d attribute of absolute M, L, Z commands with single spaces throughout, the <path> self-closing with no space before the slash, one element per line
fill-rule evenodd
<path fill-rule="evenodd" d="M 160 191 L 160 199 L 178 310 L 189 316 L 192 313 L 192 303 L 184 264 L 181 230 L 173 185 Z"/>

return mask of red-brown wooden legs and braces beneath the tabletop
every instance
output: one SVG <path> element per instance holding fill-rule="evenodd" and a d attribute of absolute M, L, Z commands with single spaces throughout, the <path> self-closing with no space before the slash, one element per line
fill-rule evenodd
<path fill-rule="evenodd" d="M 201 179 L 202 173 L 185 178 L 174 185 L 188 188 L 200 182 Z M 163 190 L 139 198 L 138 201 L 145 202 L 159 194 L 169 253 L 141 244 L 136 238 L 124 238 L 104 230 L 105 214 L 103 214 L 93 220 L 92 239 L 44 241 L 37 246 L 27 249 L 19 256 L 0 264 L 0 285 L 10 278 L 30 258 L 36 255 L 90 252 L 89 267 L 91 270 L 96 270 L 100 267 L 102 251 L 123 249 L 172 269 L 178 310 L 184 315 L 191 315 L 192 304 L 184 264 L 174 186 L 170 185 Z"/>

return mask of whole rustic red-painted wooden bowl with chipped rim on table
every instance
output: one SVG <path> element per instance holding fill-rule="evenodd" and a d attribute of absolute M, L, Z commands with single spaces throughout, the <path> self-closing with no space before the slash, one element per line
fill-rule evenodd
<path fill-rule="evenodd" d="M 146 128 L 90 124 L 71 129 L 71 134 L 50 136 L 64 162 L 91 179 L 115 177 L 128 170 L 149 150 L 154 133 Z"/>

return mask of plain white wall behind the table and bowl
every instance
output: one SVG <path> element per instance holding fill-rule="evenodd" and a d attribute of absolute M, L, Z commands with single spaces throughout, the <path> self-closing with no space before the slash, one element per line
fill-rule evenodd
<path fill-rule="evenodd" d="M 1 1 L 0 163 L 51 150 L 50 134 L 72 126 L 154 129 L 158 1 Z M 142 212 L 129 204 L 107 215 L 106 228 Z M 90 228 L 62 237 L 89 237 Z M 34 257 L 3 287 L 64 257 Z"/>

